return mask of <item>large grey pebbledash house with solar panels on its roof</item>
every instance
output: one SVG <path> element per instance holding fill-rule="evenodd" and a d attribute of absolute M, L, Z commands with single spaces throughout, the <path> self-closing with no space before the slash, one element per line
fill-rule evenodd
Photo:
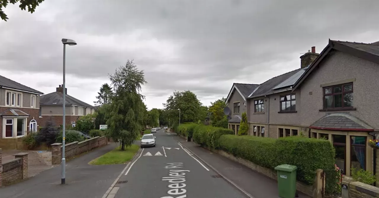
<path fill-rule="evenodd" d="M 325 138 L 345 175 L 352 167 L 379 173 L 378 153 L 368 146 L 379 134 L 379 42 L 329 40 L 320 54 L 312 47 L 300 58 L 299 69 L 246 97 L 249 134 Z"/>

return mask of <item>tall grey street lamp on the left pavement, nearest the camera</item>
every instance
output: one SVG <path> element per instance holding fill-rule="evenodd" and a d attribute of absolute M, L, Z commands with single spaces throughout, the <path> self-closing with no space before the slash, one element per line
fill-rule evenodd
<path fill-rule="evenodd" d="M 62 163 L 61 163 L 61 184 L 66 183 L 66 45 L 76 45 L 74 40 L 62 38 L 63 43 L 63 128 L 62 128 Z"/>

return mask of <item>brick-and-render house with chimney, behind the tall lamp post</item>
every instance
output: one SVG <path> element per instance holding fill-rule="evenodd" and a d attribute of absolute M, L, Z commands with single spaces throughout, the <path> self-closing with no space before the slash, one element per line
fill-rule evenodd
<path fill-rule="evenodd" d="M 41 126 L 51 120 L 56 125 L 63 123 L 63 86 L 56 87 L 56 91 L 40 97 L 40 120 Z M 93 114 L 96 107 L 87 104 L 67 94 L 66 88 L 66 126 L 76 123 L 83 115 Z"/>

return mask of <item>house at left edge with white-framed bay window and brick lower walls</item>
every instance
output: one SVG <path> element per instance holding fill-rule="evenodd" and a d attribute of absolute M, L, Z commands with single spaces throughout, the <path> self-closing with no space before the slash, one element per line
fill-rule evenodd
<path fill-rule="evenodd" d="M 0 148 L 17 142 L 39 125 L 39 96 L 43 93 L 0 75 Z"/>

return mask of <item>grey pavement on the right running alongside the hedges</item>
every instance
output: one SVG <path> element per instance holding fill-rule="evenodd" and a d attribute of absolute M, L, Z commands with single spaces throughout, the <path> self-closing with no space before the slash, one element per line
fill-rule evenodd
<path fill-rule="evenodd" d="M 174 140 L 179 141 L 183 147 L 207 164 L 207 166 L 222 175 L 230 184 L 241 189 L 247 197 L 279 198 L 276 180 L 255 172 L 229 158 L 204 149 L 194 142 L 187 142 L 183 137 L 175 133 L 169 134 L 171 134 Z M 298 194 L 299 198 L 310 198 L 310 196 L 304 193 L 298 192 Z"/>

